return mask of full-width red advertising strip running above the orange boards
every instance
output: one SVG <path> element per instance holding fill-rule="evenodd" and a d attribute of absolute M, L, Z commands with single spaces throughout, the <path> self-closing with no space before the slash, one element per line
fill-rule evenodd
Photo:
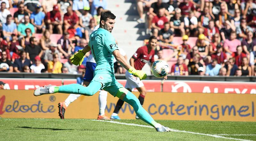
<path fill-rule="evenodd" d="M 44 85 L 66 85 L 76 83 L 76 79 L 19 79 L 2 78 L 0 81 L 7 90 L 35 90 Z M 118 80 L 125 86 L 126 80 Z M 143 81 L 148 92 L 188 92 L 188 93 L 237 93 L 256 94 L 255 82 L 216 82 L 216 81 Z M 134 89 L 133 91 L 138 91 Z"/>

